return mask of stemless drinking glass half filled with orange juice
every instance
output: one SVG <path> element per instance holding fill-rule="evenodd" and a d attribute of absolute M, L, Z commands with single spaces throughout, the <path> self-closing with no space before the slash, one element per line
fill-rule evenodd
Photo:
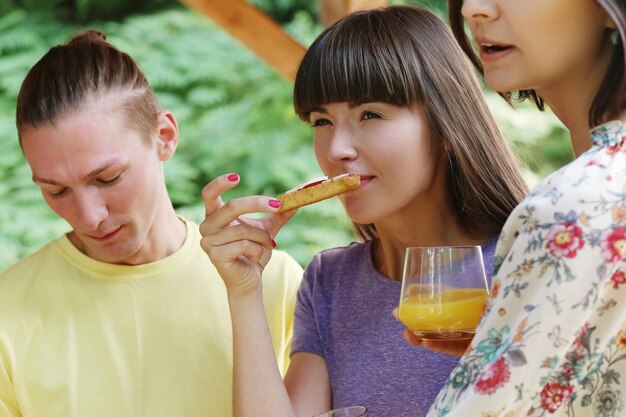
<path fill-rule="evenodd" d="M 480 246 L 406 249 L 398 318 L 419 339 L 472 339 L 488 296 Z"/>

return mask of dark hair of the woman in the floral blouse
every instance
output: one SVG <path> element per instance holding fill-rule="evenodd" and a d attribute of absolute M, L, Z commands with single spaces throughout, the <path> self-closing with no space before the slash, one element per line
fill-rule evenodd
<path fill-rule="evenodd" d="M 626 6 L 623 0 L 595 0 L 606 10 L 617 27 L 619 33 L 618 43 L 613 50 L 613 56 L 609 67 L 604 75 L 598 91 L 589 108 L 589 126 L 596 126 L 607 120 L 619 117 L 626 109 Z M 448 0 L 448 13 L 450 26 L 461 48 L 469 57 L 474 66 L 483 73 L 480 59 L 465 32 L 465 23 L 461 9 L 463 0 Z M 610 33 L 606 34 L 605 42 L 609 42 Z M 512 96 L 523 100 L 530 98 L 540 110 L 544 109 L 543 100 L 537 96 L 534 90 L 517 92 L 501 92 L 507 99 Z"/>

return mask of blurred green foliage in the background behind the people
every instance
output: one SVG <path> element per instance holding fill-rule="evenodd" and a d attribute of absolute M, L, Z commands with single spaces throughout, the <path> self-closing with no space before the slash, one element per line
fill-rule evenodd
<path fill-rule="evenodd" d="M 263 7 L 272 2 L 265 3 Z M 68 229 L 32 184 L 17 141 L 14 108 L 28 69 L 80 27 L 32 11 L 13 10 L 0 17 L 0 270 Z M 178 119 L 179 148 L 165 169 L 173 203 L 182 215 L 202 220 L 200 191 L 220 174 L 238 172 L 242 178 L 225 199 L 277 195 L 321 175 L 311 128 L 292 108 L 291 84 L 207 19 L 176 5 L 95 27 L 137 60 L 162 106 Z M 310 10 L 293 14 L 285 28 L 303 45 L 321 30 Z M 552 115 L 525 106 L 512 110 L 491 93 L 489 103 L 532 170 L 530 181 L 570 157 L 565 131 Z M 300 210 L 276 240 L 305 264 L 315 252 L 352 239 L 349 220 L 333 199 Z"/>

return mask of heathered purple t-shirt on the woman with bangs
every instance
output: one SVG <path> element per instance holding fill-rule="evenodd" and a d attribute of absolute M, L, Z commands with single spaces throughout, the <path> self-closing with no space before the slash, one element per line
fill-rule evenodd
<path fill-rule="evenodd" d="M 496 241 L 482 246 L 489 283 Z M 364 405 L 369 417 L 424 416 L 459 361 L 402 339 L 404 325 L 391 314 L 400 288 L 374 267 L 371 242 L 320 252 L 307 266 L 291 352 L 326 360 L 333 408 Z"/>

